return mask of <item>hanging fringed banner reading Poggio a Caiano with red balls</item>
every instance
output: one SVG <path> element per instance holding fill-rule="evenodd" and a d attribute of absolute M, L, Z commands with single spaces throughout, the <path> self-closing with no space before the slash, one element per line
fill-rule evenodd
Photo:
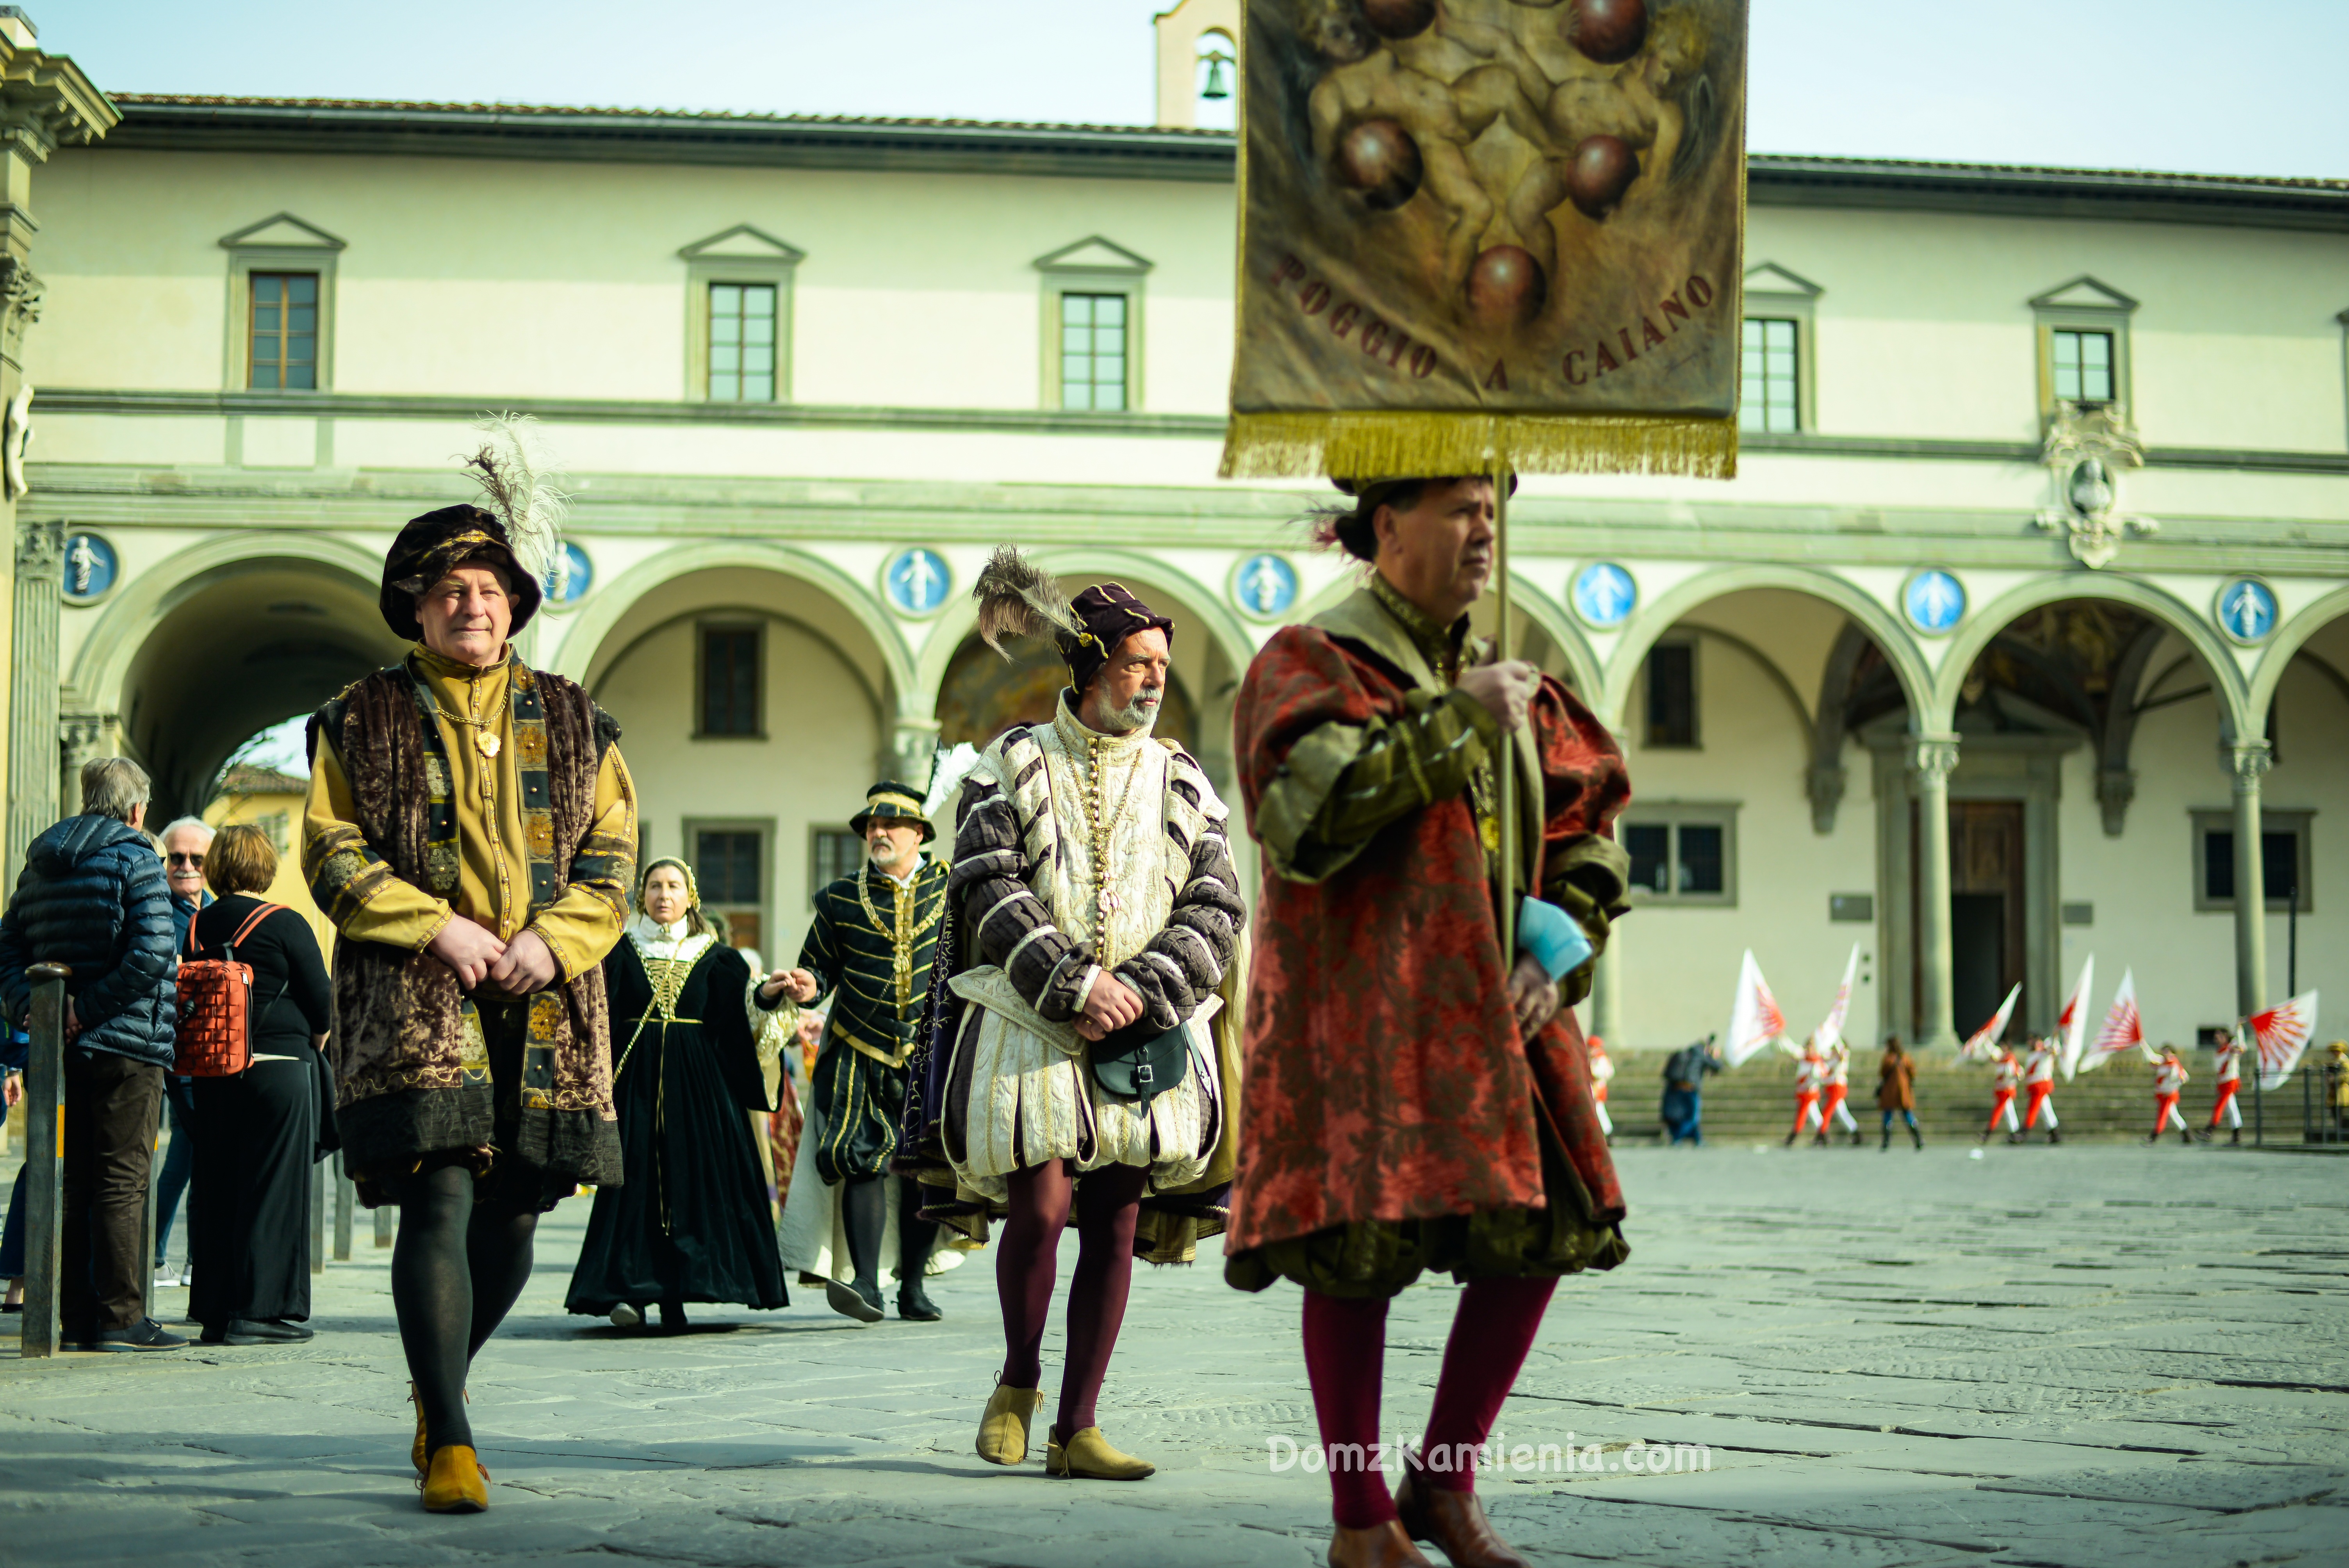
<path fill-rule="evenodd" d="M 1226 477 L 1736 472 L 1745 0 L 1247 0 Z"/>

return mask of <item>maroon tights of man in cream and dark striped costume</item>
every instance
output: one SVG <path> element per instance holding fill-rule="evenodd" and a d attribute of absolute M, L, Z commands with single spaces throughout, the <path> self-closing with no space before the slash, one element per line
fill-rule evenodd
<path fill-rule="evenodd" d="M 1059 1425 L 1066 1439 L 1095 1425 L 1095 1401 L 1109 1376 L 1109 1352 L 1125 1322 L 1125 1289 L 1135 1277 L 1135 1221 L 1149 1171 L 1104 1164 L 1069 1174 L 1064 1160 L 1012 1171 L 1010 1218 L 996 1256 L 996 1296 L 1003 1300 L 1003 1385 L 1041 1387 L 1043 1326 L 1052 1314 L 1059 1232 L 1076 1207 L 1076 1277 L 1069 1279 L 1069 1366 L 1059 1378 Z"/>

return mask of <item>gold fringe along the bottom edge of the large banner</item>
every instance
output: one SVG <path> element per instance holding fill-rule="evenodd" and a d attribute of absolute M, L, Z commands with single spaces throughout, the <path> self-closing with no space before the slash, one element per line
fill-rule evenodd
<path fill-rule="evenodd" d="M 1736 479 L 1738 423 L 1691 413 L 1233 411 L 1224 479 L 1402 474 Z"/>

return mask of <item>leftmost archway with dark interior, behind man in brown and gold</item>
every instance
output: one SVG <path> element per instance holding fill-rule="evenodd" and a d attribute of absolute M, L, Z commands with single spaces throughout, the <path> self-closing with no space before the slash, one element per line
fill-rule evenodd
<path fill-rule="evenodd" d="M 334 535 L 237 530 L 136 573 L 66 676 L 68 749 L 99 744 L 110 718 L 155 782 L 155 817 L 200 812 L 244 739 L 399 660 L 381 570 Z"/>

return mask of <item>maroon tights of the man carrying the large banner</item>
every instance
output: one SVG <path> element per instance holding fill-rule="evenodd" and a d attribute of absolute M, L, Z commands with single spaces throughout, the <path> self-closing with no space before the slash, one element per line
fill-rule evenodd
<path fill-rule="evenodd" d="M 1445 1448 L 1445 1458 L 1454 1458 L 1492 1437 L 1492 1422 L 1517 1383 L 1555 1289 L 1555 1279 L 1475 1279 L 1461 1291 L 1452 1338 L 1445 1340 L 1445 1368 L 1435 1380 L 1435 1408 L 1428 1411 L 1421 1444 L 1426 1455 Z M 1395 1516 L 1386 1476 L 1369 1462 L 1379 1441 L 1384 1361 L 1384 1298 L 1346 1300 L 1306 1291 L 1306 1378 L 1313 1383 L 1313 1415 L 1330 1458 L 1330 1512 L 1348 1530 L 1367 1530 Z M 1355 1453 L 1365 1458 L 1355 1462 Z M 1475 1469 L 1456 1458 L 1447 1469 L 1412 1469 L 1421 1486 L 1475 1491 Z"/>

